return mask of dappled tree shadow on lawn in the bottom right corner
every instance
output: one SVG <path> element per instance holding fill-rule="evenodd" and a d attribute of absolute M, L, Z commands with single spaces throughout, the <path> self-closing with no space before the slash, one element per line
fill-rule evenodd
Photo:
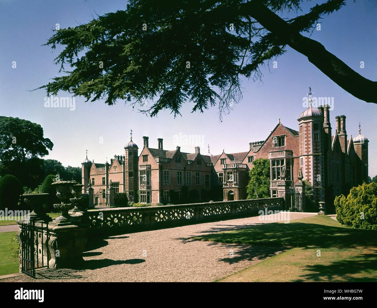
<path fill-rule="evenodd" d="M 360 254 L 351 257 L 347 260 L 339 260 L 329 265 L 308 265 L 305 268 L 307 274 L 302 275 L 302 279 L 295 280 L 296 282 L 302 281 L 348 281 L 348 282 L 375 282 L 377 275 L 372 275 L 372 271 L 377 271 L 377 254 L 368 253 Z M 352 274 L 360 274 L 370 272 L 369 277 L 352 277 Z M 339 279 L 341 277 L 342 279 Z"/>

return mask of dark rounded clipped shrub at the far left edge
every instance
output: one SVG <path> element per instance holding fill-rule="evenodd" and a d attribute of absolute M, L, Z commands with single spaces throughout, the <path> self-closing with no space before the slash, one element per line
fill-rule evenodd
<path fill-rule="evenodd" d="M 23 194 L 21 182 L 13 175 L 7 174 L 0 179 L 0 209 L 15 209 Z"/>

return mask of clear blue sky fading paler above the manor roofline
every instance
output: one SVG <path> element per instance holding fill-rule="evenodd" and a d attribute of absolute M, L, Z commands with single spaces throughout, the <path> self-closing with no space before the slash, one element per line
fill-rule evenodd
<path fill-rule="evenodd" d="M 336 115 L 346 115 L 348 137 L 357 135 L 357 125 L 361 122 L 362 134 L 370 141 L 369 175 L 377 174 L 374 159 L 377 154 L 377 105 L 352 97 L 305 56 L 290 48 L 277 59 L 276 69 L 262 70 L 263 83 L 244 80 L 242 101 L 224 116 L 222 122 L 216 107 L 204 114 L 190 113 L 190 103 L 182 107 L 182 117 L 175 119 L 169 112 L 150 118 L 133 111 L 122 101 L 107 106 L 103 101 L 85 103 L 81 97 L 76 98 L 74 111 L 45 108 L 44 90 L 28 90 L 48 83 L 49 78 L 58 73 L 58 66 L 53 64 L 58 49 L 41 46 L 52 35 L 51 29 L 57 23 L 61 28 L 86 23 L 95 13 L 113 12 L 124 9 L 125 5 L 125 1 L 115 0 L 0 0 L 0 115 L 41 124 L 45 136 L 54 143 L 53 150 L 45 158 L 58 159 L 63 165 L 80 166 L 87 149 L 90 159 L 105 162 L 106 157 L 123 154 L 130 129 L 140 149 L 142 136 L 149 136 L 150 147 L 157 147 L 157 138 L 163 138 L 164 149 L 179 145 L 185 152 L 194 152 L 198 145 L 201 152 L 207 152 L 209 143 L 214 155 L 223 149 L 228 153 L 247 151 L 249 142 L 267 138 L 278 118 L 285 126 L 298 129 L 297 117 L 305 109 L 303 97 L 311 86 L 314 97 L 334 97 L 334 110 L 330 112 L 333 132 Z M 325 16 L 321 30 L 315 30 L 311 37 L 364 77 L 376 80 L 376 16 L 375 1 L 349 1 L 338 12 Z M 17 64 L 15 69 L 13 61 Z M 365 68 L 360 68 L 360 61 L 364 61 Z M 70 96 L 69 93 L 59 95 Z M 185 136 L 192 136 L 199 144 L 186 144 Z"/>

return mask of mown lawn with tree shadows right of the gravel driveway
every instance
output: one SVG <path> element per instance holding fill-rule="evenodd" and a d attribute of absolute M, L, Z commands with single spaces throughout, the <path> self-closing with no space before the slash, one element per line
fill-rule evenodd
<path fill-rule="evenodd" d="M 345 227 L 323 215 L 194 239 L 287 249 L 219 280 L 222 282 L 377 281 L 377 231 Z M 266 257 L 240 251 L 228 262 Z"/>

